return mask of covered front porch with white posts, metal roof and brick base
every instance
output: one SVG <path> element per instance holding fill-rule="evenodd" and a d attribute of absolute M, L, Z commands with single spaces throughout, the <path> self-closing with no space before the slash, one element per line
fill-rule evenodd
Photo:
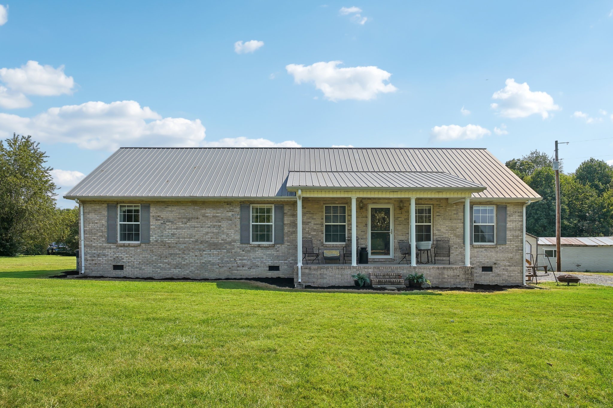
<path fill-rule="evenodd" d="M 424 273 L 433 286 L 473 287 L 471 194 L 485 187 L 438 172 L 361 172 L 358 176 L 352 172 L 350 180 L 345 173 L 295 173 L 299 174 L 290 174 L 287 188 L 295 188 L 298 204 L 297 286 L 349 286 L 354 273 L 403 278 L 417 272 Z M 365 186 L 371 177 L 378 177 L 383 187 Z M 313 242 L 319 264 L 305 261 L 303 238 Z M 421 264 L 417 242 L 432 242 L 435 247 L 437 238 L 447 240 L 449 256 L 444 264 L 441 260 L 435 264 L 432 258 L 431 263 Z M 368 264 L 358 263 L 362 247 L 368 250 Z M 335 250 L 340 255 L 338 264 L 324 264 L 324 251 Z M 422 253 L 422 262 L 434 252 L 433 248 Z"/>

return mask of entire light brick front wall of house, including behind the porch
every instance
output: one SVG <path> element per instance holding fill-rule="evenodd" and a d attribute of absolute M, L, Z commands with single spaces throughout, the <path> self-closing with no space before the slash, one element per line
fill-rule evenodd
<path fill-rule="evenodd" d="M 409 199 L 399 209 L 400 199 L 362 198 L 364 209 L 357 209 L 356 229 L 360 247 L 367 245 L 368 204 L 394 204 L 394 253 L 390 267 L 400 260 L 398 239 L 409 237 Z M 357 202 L 360 198 L 357 199 Z M 133 202 L 133 201 L 132 201 Z M 167 201 L 151 204 L 151 243 L 121 244 L 106 242 L 107 202 L 85 202 L 85 273 L 86 275 L 134 276 L 153 278 L 250 278 L 294 277 L 297 262 L 295 201 L 253 201 L 253 204 L 284 204 L 284 243 L 280 245 L 241 244 L 239 237 L 240 204 L 248 201 Z M 451 239 L 451 264 L 464 262 L 463 204 L 449 204 L 447 199 L 417 199 L 417 204 L 433 205 L 433 238 Z M 312 237 L 314 245 L 324 247 L 324 204 L 347 205 L 347 231 L 351 232 L 351 199 L 304 198 L 303 237 Z M 479 203 L 481 204 L 481 203 Z M 499 204 L 492 202 L 492 204 Z M 508 203 L 507 244 L 471 246 L 471 276 L 474 283 L 522 283 L 522 204 Z M 338 246 L 331 246 L 338 248 Z M 396 263 L 395 263 L 396 262 Z M 113 271 L 112 265 L 124 265 Z M 279 265 L 280 272 L 268 272 L 268 265 Z M 326 265 L 329 266 L 329 265 Z M 481 272 L 492 266 L 493 272 Z M 422 265 L 421 267 L 424 267 Z M 436 286 L 463 286 L 466 273 L 439 275 L 438 269 L 424 269 Z M 343 272 L 344 273 L 344 272 Z M 354 273 L 354 272 L 352 272 Z M 446 270 L 444 273 L 449 273 Z M 452 274 L 455 272 L 451 272 Z M 349 273 L 351 275 L 351 273 Z M 342 285 L 336 278 L 318 278 L 323 286 Z M 327 283 L 328 282 L 328 283 Z M 337 282 L 337 283 L 335 283 Z M 351 281 L 352 283 L 352 281 Z M 349 283 L 349 284 L 351 284 Z"/>

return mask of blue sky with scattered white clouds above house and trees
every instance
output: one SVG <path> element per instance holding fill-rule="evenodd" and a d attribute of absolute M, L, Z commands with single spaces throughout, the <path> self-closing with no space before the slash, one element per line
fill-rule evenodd
<path fill-rule="evenodd" d="M 60 193 L 118 146 L 613 137 L 613 0 L 429 3 L 0 0 L 0 137 L 40 141 Z"/>

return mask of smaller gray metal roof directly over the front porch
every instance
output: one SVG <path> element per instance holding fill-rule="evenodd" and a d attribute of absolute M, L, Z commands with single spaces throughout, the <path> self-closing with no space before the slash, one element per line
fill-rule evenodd
<path fill-rule="evenodd" d="M 290 171 L 287 188 L 442 188 L 483 191 L 477 183 L 437 171 Z"/>

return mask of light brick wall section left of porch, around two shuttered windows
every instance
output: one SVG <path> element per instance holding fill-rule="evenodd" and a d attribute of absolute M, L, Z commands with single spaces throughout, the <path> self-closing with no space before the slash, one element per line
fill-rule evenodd
<path fill-rule="evenodd" d="M 132 201 L 131 201 L 132 202 Z M 246 202 L 246 201 L 245 201 Z M 295 201 L 284 204 L 284 243 L 240 243 L 240 204 L 221 201 L 150 202 L 151 243 L 107 243 L 107 202 L 85 202 L 85 274 L 152 278 L 294 276 Z M 113 264 L 124 265 L 114 271 Z M 280 272 L 268 272 L 279 265 Z"/>

